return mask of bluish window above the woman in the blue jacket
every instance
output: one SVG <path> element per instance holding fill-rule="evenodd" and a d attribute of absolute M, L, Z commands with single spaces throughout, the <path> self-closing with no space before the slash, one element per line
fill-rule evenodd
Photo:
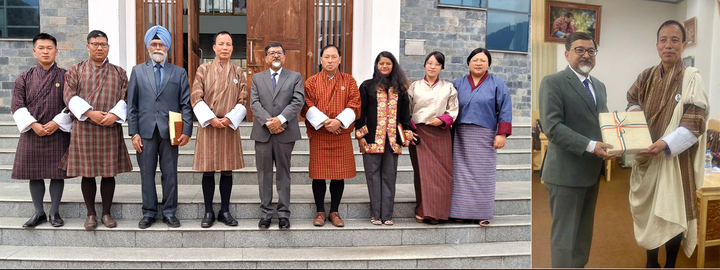
<path fill-rule="evenodd" d="M 438 3 L 487 9 L 487 50 L 528 51 L 530 0 L 438 0 Z"/>

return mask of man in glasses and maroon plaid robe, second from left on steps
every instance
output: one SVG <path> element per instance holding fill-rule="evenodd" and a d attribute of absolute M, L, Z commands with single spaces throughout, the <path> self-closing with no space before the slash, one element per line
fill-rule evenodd
<path fill-rule="evenodd" d="M 97 227 L 95 177 L 101 176 L 102 224 L 117 226 L 110 215 L 117 174 L 132 171 L 122 126 L 127 116 L 127 73 L 109 63 L 107 35 L 93 30 L 87 37 L 90 59 L 76 63 L 65 74 L 63 98 L 74 116 L 70 148 L 60 163 L 68 176 L 82 176 L 87 208 L 85 228 Z"/>

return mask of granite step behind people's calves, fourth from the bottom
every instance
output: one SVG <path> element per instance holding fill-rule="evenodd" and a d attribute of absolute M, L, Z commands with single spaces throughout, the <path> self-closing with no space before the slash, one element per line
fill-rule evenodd
<path fill-rule="evenodd" d="M 292 159 L 291 159 L 292 160 Z M 137 164 L 136 161 L 133 163 Z M 346 184 L 365 184 L 365 168 L 362 166 L 356 167 L 356 176 L 351 179 L 346 179 Z M 12 176 L 12 165 L 0 165 L 0 183 L 25 183 L 27 180 L 11 179 Z M 411 184 L 413 183 L 413 167 L 412 166 L 398 166 L 397 167 L 397 184 Z M 497 167 L 497 181 L 530 181 L 531 166 L 530 164 L 521 165 L 498 165 Z M 160 168 L 156 169 L 156 183 L 160 184 Z M 215 173 L 216 181 L 220 179 L 220 173 Z M 140 168 L 133 167 L 132 171 L 118 174 L 115 176 L 117 184 L 140 184 Z M 66 183 L 79 184 L 81 181 L 80 177 L 73 179 L 67 179 Z M 292 184 L 312 184 L 310 179 L 310 171 L 308 167 L 291 167 L 290 168 L 290 181 Z M 178 168 L 178 184 L 201 184 L 202 183 L 202 172 L 194 171 L 192 167 L 179 167 Z M 233 183 L 234 184 L 257 184 L 258 174 L 256 167 L 246 167 L 239 170 L 233 171 Z"/>

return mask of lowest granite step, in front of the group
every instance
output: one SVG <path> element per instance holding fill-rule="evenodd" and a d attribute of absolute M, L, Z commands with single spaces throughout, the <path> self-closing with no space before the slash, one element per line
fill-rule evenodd
<path fill-rule="evenodd" d="M 0 246 L 3 268 L 530 268 L 530 241 L 331 248 Z"/>

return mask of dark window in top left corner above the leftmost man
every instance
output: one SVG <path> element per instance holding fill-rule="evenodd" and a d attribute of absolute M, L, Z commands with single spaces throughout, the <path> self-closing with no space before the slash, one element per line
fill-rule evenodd
<path fill-rule="evenodd" d="M 0 0 L 0 37 L 32 38 L 40 33 L 39 0 Z"/>

